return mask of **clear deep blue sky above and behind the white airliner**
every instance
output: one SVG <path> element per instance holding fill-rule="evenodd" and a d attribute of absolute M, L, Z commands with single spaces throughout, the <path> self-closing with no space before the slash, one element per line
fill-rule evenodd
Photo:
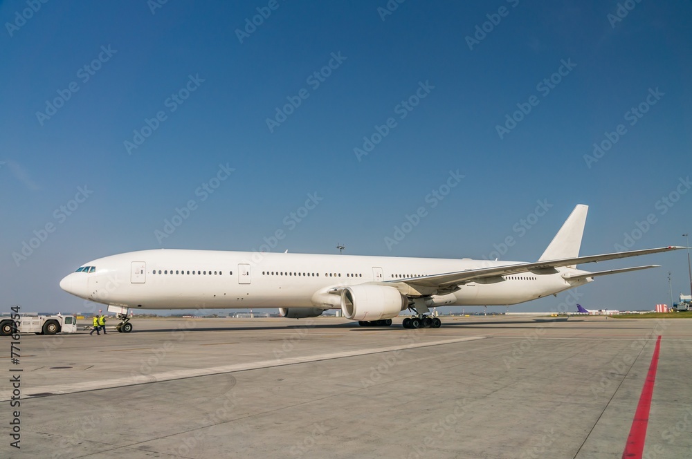
<path fill-rule="evenodd" d="M 0 3 L 0 312 L 84 310 L 58 282 L 100 256 L 253 250 L 277 229 L 276 251 L 448 258 L 511 236 L 501 258 L 525 261 L 579 203 L 582 254 L 692 231 L 689 2 L 32 4 Z M 579 301 L 669 303 L 668 270 L 689 291 L 684 252 L 583 268 L 648 263 Z"/>

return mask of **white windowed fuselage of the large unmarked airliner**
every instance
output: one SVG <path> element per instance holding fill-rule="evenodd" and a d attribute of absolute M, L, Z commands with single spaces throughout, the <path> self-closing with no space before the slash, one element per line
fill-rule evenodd
<path fill-rule="evenodd" d="M 78 297 L 134 309 L 338 308 L 330 288 L 399 280 L 444 272 L 511 265 L 512 261 L 424 259 L 211 250 L 143 250 L 96 259 L 60 286 Z M 557 268 L 552 274 L 524 272 L 493 281 L 468 282 L 448 294 L 433 294 L 430 306 L 510 305 L 555 294 L 591 279 Z M 415 296 L 412 295 L 412 296 Z"/>

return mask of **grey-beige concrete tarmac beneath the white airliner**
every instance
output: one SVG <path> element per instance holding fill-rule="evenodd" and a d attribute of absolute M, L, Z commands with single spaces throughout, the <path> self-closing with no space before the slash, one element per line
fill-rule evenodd
<path fill-rule="evenodd" d="M 3 337 L 0 457 L 621 458 L 659 335 L 644 457 L 692 457 L 692 321 L 442 322 L 135 318 L 18 365 Z"/>

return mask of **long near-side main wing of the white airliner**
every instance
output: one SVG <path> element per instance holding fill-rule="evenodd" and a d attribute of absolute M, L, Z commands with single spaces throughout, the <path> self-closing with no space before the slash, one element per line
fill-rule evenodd
<path fill-rule="evenodd" d="M 686 247 L 668 246 L 656 249 L 630 250 L 629 252 L 617 252 L 612 254 L 576 256 L 567 259 L 533 261 L 529 263 L 513 263 L 502 266 L 492 266 L 491 268 L 477 268 L 475 270 L 465 270 L 457 272 L 447 272 L 444 274 L 433 274 L 425 277 L 412 277 L 409 279 L 397 279 L 397 281 L 412 285 L 424 285 L 426 287 L 452 287 L 467 282 L 492 282 L 493 278 L 498 278 L 505 274 L 518 274 L 521 272 L 534 272 L 536 274 L 550 274 L 555 272 L 555 268 L 581 263 L 597 263 L 599 261 L 617 260 L 629 258 L 630 256 L 640 256 L 657 254 L 659 252 L 669 252 L 680 250 Z M 643 268 L 642 268 L 643 269 Z M 592 275 L 592 274 L 590 274 Z M 499 279 L 495 279 L 499 280 Z"/>

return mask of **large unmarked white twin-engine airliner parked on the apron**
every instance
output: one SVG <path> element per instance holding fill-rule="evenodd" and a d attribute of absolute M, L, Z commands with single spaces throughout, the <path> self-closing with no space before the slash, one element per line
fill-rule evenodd
<path fill-rule="evenodd" d="M 684 247 L 579 256 L 588 206 L 577 205 L 535 262 L 424 259 L 211 250 L 143 250 L 89 261 L 60 281 L 77 297 L 118 312 L 129 309 L 280 308 L 290 318 L 340 309 L 361 326 L 390 326 L 403 310 L 405 328 L 440 326 L 437 306 L 508 306 L 556 295 L 594 277 L 655 268 L 587 272 L 579 263 Z"/>

